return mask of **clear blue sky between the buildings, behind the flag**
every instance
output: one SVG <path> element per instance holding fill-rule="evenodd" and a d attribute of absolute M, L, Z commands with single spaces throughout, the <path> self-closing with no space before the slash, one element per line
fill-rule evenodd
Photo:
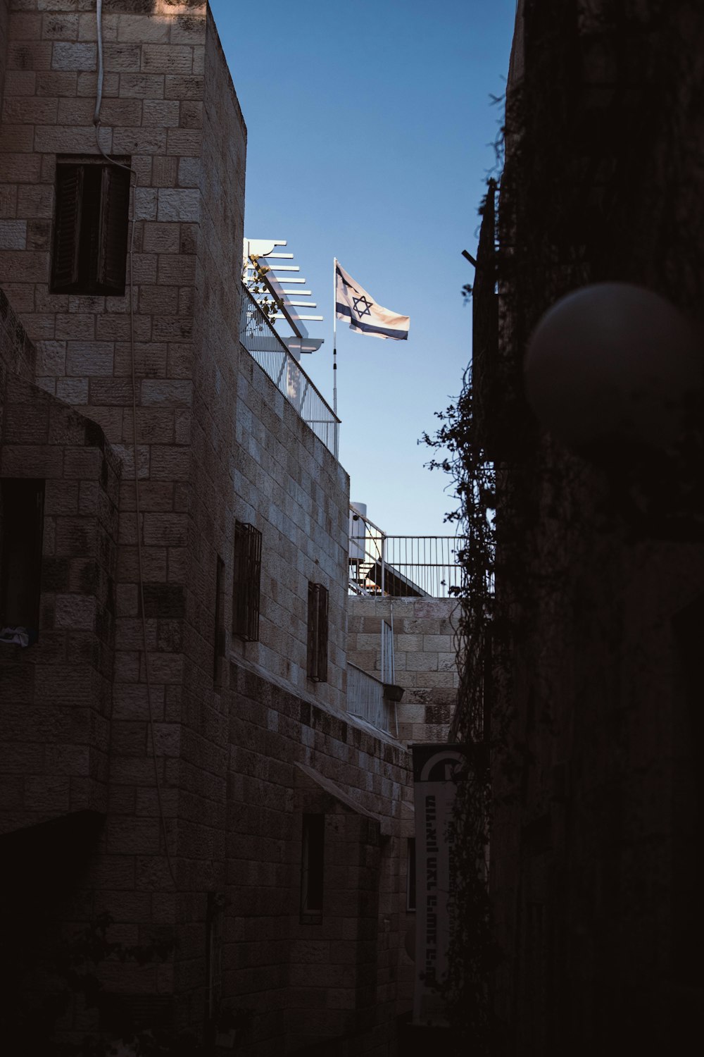
<path fill-rule="evenodd" d="M 302 366 L 332 405 L 332 260 L 411 316 L 407 341 L 338 320 L 340 461 L 392 535 L 452 534 L 417 442 L 471 357 L 477 207 L 493 170 L 515 0 L 210 0 L 247 123 L 245 235 L 286 239 L 324 337 Z"/>

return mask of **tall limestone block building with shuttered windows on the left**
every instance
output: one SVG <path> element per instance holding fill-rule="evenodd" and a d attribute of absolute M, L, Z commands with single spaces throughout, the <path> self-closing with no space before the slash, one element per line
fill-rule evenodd
<path fill-rule="evenodd" d="M 3 1037 L 391 1053 L 410 759 L 347 708 L 348 478 L 243 344 L 212 16 L 0 0 L 0 41 Z"/>

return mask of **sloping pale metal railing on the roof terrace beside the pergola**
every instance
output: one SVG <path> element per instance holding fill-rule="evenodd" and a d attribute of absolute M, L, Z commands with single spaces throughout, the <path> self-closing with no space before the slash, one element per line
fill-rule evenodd
<path fill-rule="evenodd" d="M 242 288 L 240 340 L 337 459 L 340 420 L 288 351 L 246 286 Z"/>

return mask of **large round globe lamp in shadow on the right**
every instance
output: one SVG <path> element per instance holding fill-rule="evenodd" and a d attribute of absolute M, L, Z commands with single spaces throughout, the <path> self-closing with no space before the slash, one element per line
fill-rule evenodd
<path fill-rule="evenodd" d="M 525 361 L 538 421 L 566 444 L 666 448 L 702 386 L 704 354 L 669 301 L 626 282 L 583 286 L 538 322 Z"/>

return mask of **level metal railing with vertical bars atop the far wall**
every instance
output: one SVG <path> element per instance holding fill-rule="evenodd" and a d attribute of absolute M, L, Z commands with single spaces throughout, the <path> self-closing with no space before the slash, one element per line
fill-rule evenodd
<path fill-rule="evenodd" d="M 350 507 L 349 590 L 397 598 L 449 598 L 461 589 L 461 536 L 387 536 Z"/>

